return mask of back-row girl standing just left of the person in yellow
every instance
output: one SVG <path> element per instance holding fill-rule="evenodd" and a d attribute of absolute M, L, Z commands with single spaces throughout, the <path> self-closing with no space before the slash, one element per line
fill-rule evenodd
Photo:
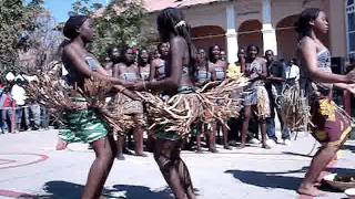
<path fill-rule="evenodd" d="M 223 81 L 226 77 L 227 63 L 221 60 L 220 45 L 213 45 L 209 49 L 209 71 L 212 74 L 212 81 Z M 220 103 L 220 102 L 216 102 Z M 220 125 L 219 122 L 214 123 L 214 132 L 219 132 L 222 126 L 223 144 L 225 149 L 232 149 L 229 144 L 229 130 L 225 126 Z"/>

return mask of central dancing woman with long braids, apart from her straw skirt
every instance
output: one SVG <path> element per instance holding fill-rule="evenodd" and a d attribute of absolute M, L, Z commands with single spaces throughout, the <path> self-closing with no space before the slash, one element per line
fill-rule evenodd
<path fill-rule="evenodd" d="M 194 51 L 190 27 L 181 11 L 174 8 L 161 11 L 156 23 L 161 40 L 170 43 L 168 73 L 162 80 L 138 83 L 135 90 L 160 91 L 169 95 L 193 93 Z M 156 133 L 154 158 L 175 197 L 194 199 L 195 193 L 187 167 L 180 157 L 182 142 L 175 132 Z"/>

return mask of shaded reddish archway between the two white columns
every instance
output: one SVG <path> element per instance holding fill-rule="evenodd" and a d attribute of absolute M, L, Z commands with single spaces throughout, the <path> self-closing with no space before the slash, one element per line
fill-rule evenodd
<path fill-rule="evenodd" d="M 260 55 L 263 50 L 263 34 L 262 23 L 258 20 L 244 21 L 237 30 L 237 43 L 240 48 L 247 48 L 247 45 L 255 44 L 260 48 Z"/>

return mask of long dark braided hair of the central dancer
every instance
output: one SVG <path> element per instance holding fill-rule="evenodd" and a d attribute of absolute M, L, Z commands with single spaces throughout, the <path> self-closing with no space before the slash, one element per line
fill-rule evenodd
<path fill-rule="evenodd" d="M 166 8 L 162 10 L 156 18 L 158 29 L 164 29 L 166 32 L 172 32 L 185 39 L 189 48 L 190 63 L 194 66 L 195 49 L 192 44 L 190 25 L 184 21 L 182 12 L 175 8 Z"/>

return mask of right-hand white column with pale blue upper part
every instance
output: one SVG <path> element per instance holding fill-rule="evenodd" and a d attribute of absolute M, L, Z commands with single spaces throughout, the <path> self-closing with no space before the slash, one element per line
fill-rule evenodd
<path fill-rule="evenodd" d="M 263 0 L 263 45 L 264 52 L 272 50 L 277 55 L 276 31 L 271 22 L 271 0 Z"/>

